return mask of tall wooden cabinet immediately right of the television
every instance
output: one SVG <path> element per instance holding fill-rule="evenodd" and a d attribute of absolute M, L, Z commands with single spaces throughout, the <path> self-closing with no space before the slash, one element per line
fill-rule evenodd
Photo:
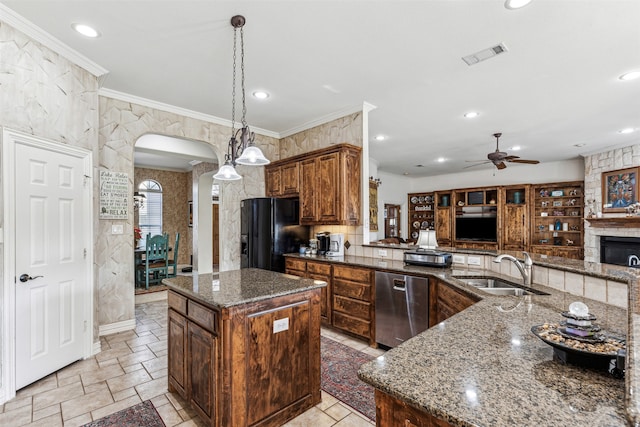
<path fill-rule="evenodd" d="M 529 185 L 501 187 L 498 197 L 501 249 L 524 251 L 529 245 Z"/>

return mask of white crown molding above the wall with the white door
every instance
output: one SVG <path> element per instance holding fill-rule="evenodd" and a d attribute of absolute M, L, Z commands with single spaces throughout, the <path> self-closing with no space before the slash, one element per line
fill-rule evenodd
<path fill-rule="evenodd" d="M 77 50 L 70 48 L 2 3 L 0 3 L 0 21 L 6 22 L 16 30 L 23 32 L 35 41 L 73 62 L 77 66 L 87 70 L 94 76 L 98 77 L 99 82 L 104 80 L 101 77 L 104 77 L 109 73 L 106 68 L 96 64 Z"/>

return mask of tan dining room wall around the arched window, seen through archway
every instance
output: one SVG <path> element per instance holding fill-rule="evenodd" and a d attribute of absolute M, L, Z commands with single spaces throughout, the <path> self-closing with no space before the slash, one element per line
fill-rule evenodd
<path fill-rule="evenodd" d="M 169 233 L 169 244 L 173 247 L 176 232 L 180 233 L 178 264 L 189 264 L 191 254 L 191 232 L 189 230 L 189 208 L 191 200 L 191 173 L 158 169 L 135 168 L 133 191 L 142 181 L 156 181 L 162 187 L 162 231 Z M 134 226 L 138 225 L 138 212 L 134 212 Z M 174 248 L 175 250 L 175 248 Z M 170 259 L 174 255 L 170 255 Z"/>

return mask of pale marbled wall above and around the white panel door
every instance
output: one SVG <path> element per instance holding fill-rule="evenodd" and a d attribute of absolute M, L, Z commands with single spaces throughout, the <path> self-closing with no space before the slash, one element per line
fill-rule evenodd
<path fill-rule="evenodd" d="M 57 53 L 0 21 L 0 127 L 22 131 L 93 151 L 93 176 L 98 176 L 97 78 Z M 94 229 L 98 224 L 98 180 L 94 180 Z M 0 227 L 4 224 L 0 200 Z M 94 237 L 96 240 L 99 234 Z M 133 239 L 130 239 L 133 242 Z M 130 243 L 132 244 L 132 243 Z M 111 248 L 113 251 L 117 247 Z M 4 244 L 0 243 L 0 275 L 4 273 Z M 98 272 L 95 252 L 94 273 Z M 132 254 L 133 256 L 133 254 Z M 131 268 L 133 271 L 133 269 Z M 96 279 L 94 276 L 94 283 Z M 0 284 L 0 295 L 4 290 Z M 95 285 L 94 285 L 95 287 Z M 100 306 L 94 294 L 96 310 Z M 133 296 L 132 296 L 133 297 Z M 133 308 L 133 305 L 132 305 Z M 130 318 L 133 319 L 133 310 Z M 0 325 L 2 327 L 2 325 Z M 94 342 L 98 337 L 94 313 Z M 0 355 L 4 354 L 0 342 Z M 2 364 L 0 357 L 0 364 Z M 0 378 L 0 382 L 2 378 Z"/>

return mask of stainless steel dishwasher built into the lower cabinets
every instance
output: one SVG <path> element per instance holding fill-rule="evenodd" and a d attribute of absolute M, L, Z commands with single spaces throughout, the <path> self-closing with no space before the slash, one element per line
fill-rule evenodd
<path fill-rule="evenodd" d="M 396 347 L 428 327 L 427 278 L 376 271 L 376 342 Z"/>

